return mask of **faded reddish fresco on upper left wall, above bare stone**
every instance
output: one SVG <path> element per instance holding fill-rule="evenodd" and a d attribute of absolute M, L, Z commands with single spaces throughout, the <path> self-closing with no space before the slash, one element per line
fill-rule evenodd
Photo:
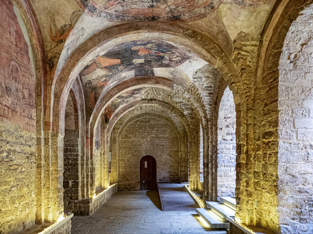
<path fill-rule="evenodd" d="M 0 116 L 24 130 L 36 130 L 35 77 L 28 44 L 13 11 L 13 5 L 0 14 Z"/>

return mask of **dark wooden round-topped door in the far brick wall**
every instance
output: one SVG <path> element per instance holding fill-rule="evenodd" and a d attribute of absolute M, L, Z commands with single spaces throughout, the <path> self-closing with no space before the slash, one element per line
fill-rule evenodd
<path fill-rule="evenodd" d="M 140 190 L 156 190 L 156 160 L 150 155 L 140 160 Z"/>

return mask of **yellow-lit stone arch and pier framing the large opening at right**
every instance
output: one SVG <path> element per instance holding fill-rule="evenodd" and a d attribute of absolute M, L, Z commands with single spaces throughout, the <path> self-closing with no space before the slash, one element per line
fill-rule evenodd
<path fill-rule="evenodd" d="M 249 162 L 251 167 L 255 167 L 255 171 L 264 169 L 267 171 L 267 174 L 264 175 L 256 172 L 260 176 L 259 179 L 256 179 L 257 186 L 254 187 L 257 192 L 251 199 L 251 201 L 258 200 L 259 207 L 262 209 L 255 207 L 252 210 L 250 207 L 253 204 L 244 198 L 245 192 L 238 193 L 239 191 L 236 190 L 236 201 L 241 203 L 237 206 L 236 217 L 238 215 L 238 219 L 242 223 L 269 228 L 275 233 L 281 232 L 278 213 L 280 199 L 278 197 L 278 67 L 284 40 L 291 23 L 299 16 L 299 12 L 311 2 L 310 0 L 278 1 L 265 24 L 261 35 L 254 84 L 254 134 L 250 136 L 251 139 L 254 139 L 253 148 L 257 150 L 254 158 L 257 160 L 254 163 Z M 238 151 L 239 149 L 237 149 Z M 237 168 L 239 167 L 240 165 L 237 165 Z M 263 184 L 259 183 L 260 180 Z"/>

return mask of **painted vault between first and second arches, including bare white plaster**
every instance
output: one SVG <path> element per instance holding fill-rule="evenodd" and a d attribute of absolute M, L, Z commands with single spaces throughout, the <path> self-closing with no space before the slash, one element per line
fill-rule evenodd
<path fill-rule="evenodd" d="M 86 106 L 93 109 L 103 90 L 138 76 L 162 76 L 188 86 L 192 72 L 207 62 L 186 48 L 162 40 L 137 40 L 115 45 L 95 57 L 80 72 Z M 138 94 L 127 93 L 127 98 Z M 134 97 L 131 97 L 134 99 Z M 125 98 L 118 98 L 125 100 Z M 125 101 L 120 102 L 124 103 Z M 110 119 L 110 114 L 107 115 Z"/>

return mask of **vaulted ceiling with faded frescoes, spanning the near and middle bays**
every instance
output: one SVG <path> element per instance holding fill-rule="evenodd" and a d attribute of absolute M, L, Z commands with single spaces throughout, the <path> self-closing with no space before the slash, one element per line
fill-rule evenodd
<path fill-rule="evenodd" d="M 143 100 L 160 100 L 186 116 L 206 115 L 210 119 L 209 108 L 220 78 L 215 69 L 219 57 L 185 40 L 184 35 L 202 33 L 231 59 L 234 39 L 240 33 L 260 37 L 274 3 L 275 0 L 31 0 L 51 79 L 95 35 L 114 32 L 115 36 L 93 41 L 97 45 L 77 58 L 80 66 L 75 70 L 83 85 L 87 119 L 103 115 L 105 122 Z M 138 21 L 151 22 L 146 27 L 150 25 L 150 29 L 142 30 Z M 162 30 L 157 22 L 162 23 Z M 118 31 L 120 25 L 125 25 L 125 32 Z M 166 25 L 168 31 L 164 30 Z M 171 27 L 183 28 L 185 33 L 177 37 Z"/>

